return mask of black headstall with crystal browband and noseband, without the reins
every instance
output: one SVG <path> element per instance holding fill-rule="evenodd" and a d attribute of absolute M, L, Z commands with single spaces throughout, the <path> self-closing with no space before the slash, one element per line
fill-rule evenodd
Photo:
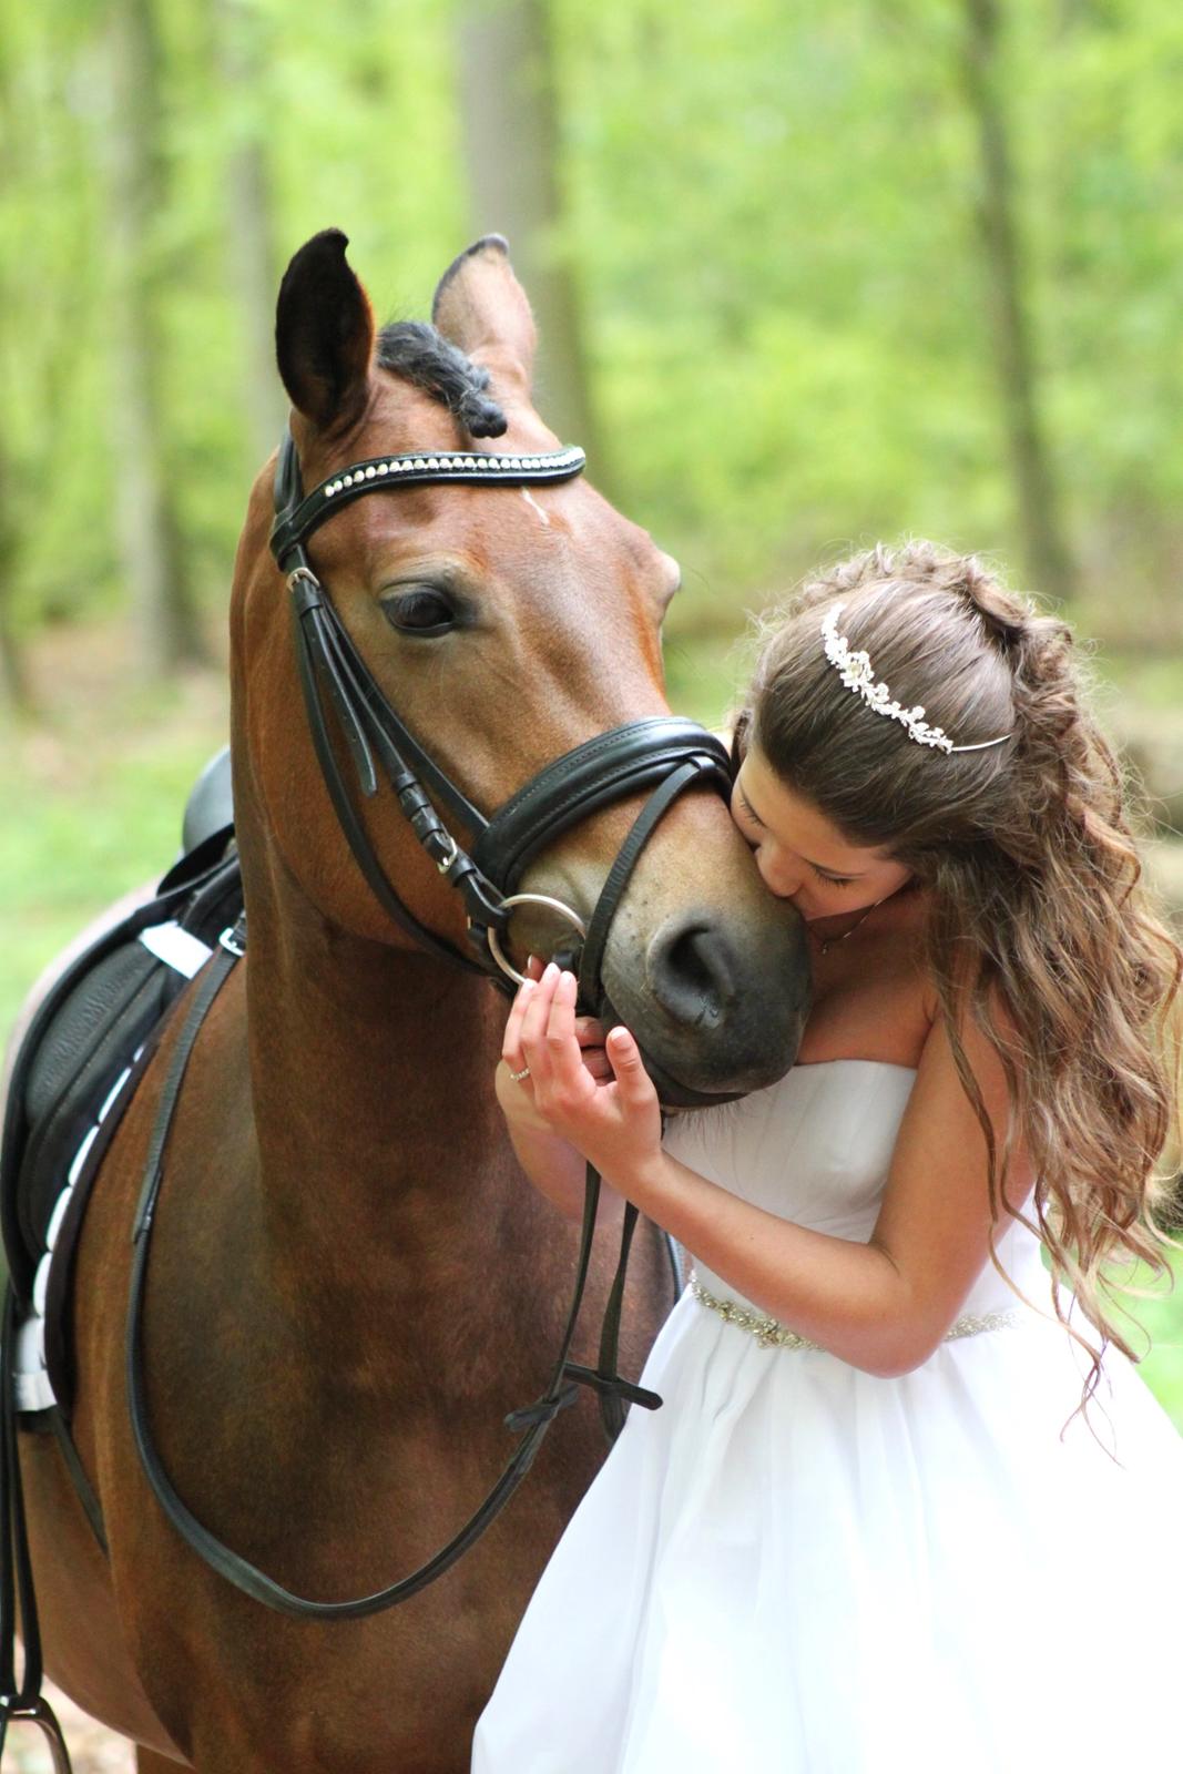
<path fill-rule="evenodd" d="M 727 749 L 693 720 L 672 715 L 630 720 L 564 752 L 486 818 L 438 768 L 390 706 L 353 646 L 305 552 L 309 536 L 321 523 L 365 493 L 454 481 L 468 486 L 569 481 L 582 474 L 584 463 L 580 449 L 541 456 L 495 456 L 481 451 L 376 456 L 330 475 L 305 495 L 296 445 L 287 433 L 275 470 L 277 514 L 271 527 L 271 553 L 287 577 L 296 619 L 300 681 L 321 773 L 341 828 L 374 898 L 394 922 L 431 954 L 486 972 L 507 990 L 520 979 L 502 947 L 514 907 L 543 905 L 559 912 L 580 942 L 578 977 L 584 1008 L 601 1013 L 603 953 L 644 843 L 685 789 L 711 786 L 724 795 L 731 791 Z M 380 765 L 415 837 L 445 880 L 458 889 L 468 919 L 472 954 L 465 954 L 417 919 L 390 883 L 349 798 L 328 733 L 321 687 L 328 692 L 362 795 L 371 797 L 378 791 L 376 765 Z M 651 798 L 608 869 L 587 926 L 559 899 L 518 892 L 521 875 L 539 850 L 601 807 L 644 791 L 649 791 Z M 436 811 L 436 800 L 470 834 L 472 850 L 461 848 L 447 830 Z"/>

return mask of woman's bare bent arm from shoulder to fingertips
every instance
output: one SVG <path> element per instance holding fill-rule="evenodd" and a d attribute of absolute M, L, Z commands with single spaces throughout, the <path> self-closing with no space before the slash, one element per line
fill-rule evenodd
<path fill-rule="evenodd" d="M 596 1086 L 578 1064 L 573 988 L 571 976 L 548 970 L 521 1025 L 534 1102 L 552 1132 L 772 1318 L 867 1373 L 926 1361 L 988 1261 L 991 1229 L 986 1141 L 944 1025 L 926 1041 L 874 1231 L 857 1244 L 766 1213 L 663 1153 L 658 1098 L 631 1036 L 608 1036 L 614 1084 Z M 975 1029 L 963 1045 L 1000 1150 L 1002 1064 Z M 1029 1187 L 1020 1155 L 1006 1196 L 1018 1205 Z"/>

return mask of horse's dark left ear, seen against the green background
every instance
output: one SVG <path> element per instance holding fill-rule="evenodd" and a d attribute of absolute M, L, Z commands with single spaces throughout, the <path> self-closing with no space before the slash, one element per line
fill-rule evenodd
<path fill-rule="evenodd" d="M 360 415 L 374 355 L 374 316 L 346 263 L 348 245 L 335 227 L 314 234 L 284 271 L 275 310 L 284 387 L 321 431 Z"/>

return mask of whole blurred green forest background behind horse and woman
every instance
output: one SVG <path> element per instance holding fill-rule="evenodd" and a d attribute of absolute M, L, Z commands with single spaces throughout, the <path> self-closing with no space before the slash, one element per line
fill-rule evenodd
<path fill-rule="evenodd" d="M 0 0 L 5 1022 L 222 742 L 328 225 L 383 319 L 509 236 L 543 413 L 683 562 L 676 706 L 818 559 L 984 552 L 1094 637 L 1183 901 L 1179 90 L 1174 0 Z"/>

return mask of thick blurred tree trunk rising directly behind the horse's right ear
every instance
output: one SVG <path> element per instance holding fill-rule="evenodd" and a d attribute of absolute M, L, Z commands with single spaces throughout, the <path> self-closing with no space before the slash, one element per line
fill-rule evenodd
<path fill-rule="evenodd" d="M 537 408 L 564 442 L 584 445 L 592 479 L 607 490 L 580 293 L 559 239 L 562 140 L 546 0 L 461 0 L 458 46 L 475 232 L 507 236 L 537 319 Z"/>

